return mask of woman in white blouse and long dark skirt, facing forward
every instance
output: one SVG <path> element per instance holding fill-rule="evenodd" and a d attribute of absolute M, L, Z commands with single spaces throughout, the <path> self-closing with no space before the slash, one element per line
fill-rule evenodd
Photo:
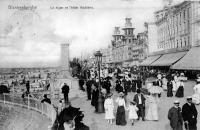
<path fill-rule="evenodd" d="M 117 103 L 117 115 L 116 115 L 116 125 L 126 125 L 126 119 L 125 119 L 125 99 L 124 99 L 124 93 L 120 92 L 119 97 L 116 99 Z"/>

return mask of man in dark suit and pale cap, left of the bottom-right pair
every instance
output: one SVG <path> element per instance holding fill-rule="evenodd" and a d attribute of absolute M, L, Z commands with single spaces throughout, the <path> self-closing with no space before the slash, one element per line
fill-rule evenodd
<path fill-rule="evenodd" d="M 174 106 L 168 111 L 168 119 L 172 130 L 183 130 L 183 118 L 179 104 L 178 100 L 174 101 Z"/>

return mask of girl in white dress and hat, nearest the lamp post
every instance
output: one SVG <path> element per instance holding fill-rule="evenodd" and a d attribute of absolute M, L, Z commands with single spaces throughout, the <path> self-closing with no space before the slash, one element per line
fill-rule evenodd
<path fill-rule="evenodd" d="M 105 119 L 110 124 L 112 124 L 112 120 L 115 118 L 114 117 L 114 103 L 113 103 L 112 95 L 113 95 L 112 93 L 109 93 L 104 102 Z"/>

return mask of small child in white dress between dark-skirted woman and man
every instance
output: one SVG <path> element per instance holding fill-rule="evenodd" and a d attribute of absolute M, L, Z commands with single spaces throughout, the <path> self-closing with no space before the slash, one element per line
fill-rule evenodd
<path fill-rule="evenodd" d="M 134 125 L 134 120 L 138 119 L 137 115 L 138 108 L 136 106 L 136 103 L 134 101 L 130 102 L 127 110 L 129 111 L 129 120 L 131 121 L 131 124 Z"/>

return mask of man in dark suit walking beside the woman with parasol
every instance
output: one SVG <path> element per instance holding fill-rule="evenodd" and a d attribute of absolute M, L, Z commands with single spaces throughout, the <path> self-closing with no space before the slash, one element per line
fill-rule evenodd
<path fill-rule="evenodd" d="M 145 121 L 145 100 L 146 98 L 144 97 L 143 94 L 141 94 L 141 90 L 137 89 L 137 94 L 134 96 L 133 101 L 137 103 L 138 107 L 138 120 L 140 117 L 142 117 L 142 120 Z"/>

